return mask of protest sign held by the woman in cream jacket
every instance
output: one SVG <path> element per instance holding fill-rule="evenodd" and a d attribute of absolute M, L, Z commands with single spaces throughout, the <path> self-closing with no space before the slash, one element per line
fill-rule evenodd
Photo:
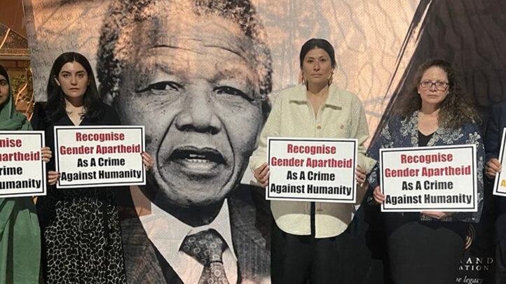
<path fill-rule="evenodd" d="M 268 138 L 266 199 L 355 203 L 356 139 Z"/>

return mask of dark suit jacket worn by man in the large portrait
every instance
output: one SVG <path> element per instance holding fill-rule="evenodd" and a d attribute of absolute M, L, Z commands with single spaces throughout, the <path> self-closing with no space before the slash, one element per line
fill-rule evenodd
<path fill-rule="evenodd" d="M 240 185 L 227 199 L 239 282 L 259 283 L 270 275 L 271 253 L 266 250 L 266 241 L 255 227 L 256 211 L 251 197 L 251 190 L 255 188 Z M 129 284 L 183 283 L 149 241 L 139 218 L 121 220 L 121 231 Z"/>

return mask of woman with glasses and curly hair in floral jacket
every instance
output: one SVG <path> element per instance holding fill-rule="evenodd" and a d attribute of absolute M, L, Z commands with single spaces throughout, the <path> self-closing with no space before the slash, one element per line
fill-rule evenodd
<path fill-rule="evenodd" d="M 484 147 L 479 115 L 465 95 L 449 62 L 432 59 L 418 67 L 413 89 L 393 115 L 368 155 L 379 160 L 381 148 L 477 145 L 478 211 L 385 213 L 388 260 L 397 284 L 454 283 L 470 222 L 478 222 L 483 206 Z M 379 164 L 369 176 L 374 201 L 385 196 L 379 187 Z"/>

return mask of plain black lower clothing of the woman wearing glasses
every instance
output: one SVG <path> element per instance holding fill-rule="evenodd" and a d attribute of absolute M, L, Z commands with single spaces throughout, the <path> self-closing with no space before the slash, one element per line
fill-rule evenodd
<path fill-rule="evenodd" d="M 469 227 L 463 222 L 411 221 L 397 227 L 388 236 L 394 283 L 455 283 L 464 253 L 466 226 Z"/>

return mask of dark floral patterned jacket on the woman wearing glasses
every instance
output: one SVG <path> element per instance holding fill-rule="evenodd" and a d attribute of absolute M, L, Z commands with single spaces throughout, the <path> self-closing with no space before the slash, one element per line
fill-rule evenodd
<path fill-rule="evenodd" d="M 453 213 L 441 221 L 479 222 L 481 209 L 483 208 L 483 168 L 485 150 L 483 139 L 479 132 L 479 126 L 474 122 L 464 122 L 458 129 L 439 127 L 427 143 L 428 146 L 439 145 L 463 145 L 475 144 L 477 149 L 477 186 L 478 186 L 478 211 Z M 418 111 L 411 117 L 402 118 L 394 115 L 382 129 L 380 136 L 374 141 L 367 151 L 367 156 L 379 161 L 381 148 L 418 147 Z M 371 170 L 368 176 L 369 190 L 372 191 L 380 184 L 379 162 Z M 427 215 L 420 215 L 420 220 L 434 220 Z"/>

